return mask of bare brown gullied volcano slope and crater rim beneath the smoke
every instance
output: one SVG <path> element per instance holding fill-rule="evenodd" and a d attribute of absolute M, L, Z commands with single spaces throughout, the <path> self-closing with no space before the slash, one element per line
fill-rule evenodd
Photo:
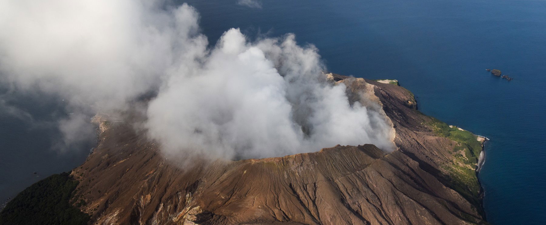
<path fill-rule="evenodd" d="M 364 93 L 382 106 L 397 150 L 338 145 L 181 170 L 143 133 L 104 122 L 99 145 L 72 171 L 80 181 L 74 202 L 85 200 L 80 209 L 93 224 L 484 223 L 475 173 L 464 176 L 454 153 L 460 144 L 434 132 L 436 121 L 416 110 L 413 94 L 333 78 L 352 100 L 366 104 Z"/>

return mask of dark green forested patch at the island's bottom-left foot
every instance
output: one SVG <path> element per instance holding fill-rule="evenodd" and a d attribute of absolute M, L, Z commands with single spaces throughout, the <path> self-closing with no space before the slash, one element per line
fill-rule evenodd
<path fill-rule="evenodd" d="M 0 224 L 87 224 L 90 216 L 70 204 L 76 186 L 68 173 L 38 181 L 5 206 Z"/>

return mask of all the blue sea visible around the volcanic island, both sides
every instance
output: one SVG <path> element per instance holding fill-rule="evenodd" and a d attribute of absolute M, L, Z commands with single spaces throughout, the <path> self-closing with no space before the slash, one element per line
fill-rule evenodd
<path fill-rule="evenodd" d="M 479 173 L 491 224 L 545 223 L 546 1 L 263 0 L 262 8 L 235 0 L 176 4 L 182 2 L 198 9 L 212 44 L 232 27 L 250 39 L 294 33 L 300 44 L 317 46 L 331 72 L 399 80 L 415 94 L 420 111 L 491 139 Z M 514 79 L 497 78 L 486 68 Z M 33 115 L 56 110 L 32 99 L 24 104 Z M 85 147 L 71 156 L 50 150 L 58 131 L 28 126 L 0 117 L 0 199 L 70 170 L 87 156 Z M 32 176 L 33 170 L 42 176 Z"/>

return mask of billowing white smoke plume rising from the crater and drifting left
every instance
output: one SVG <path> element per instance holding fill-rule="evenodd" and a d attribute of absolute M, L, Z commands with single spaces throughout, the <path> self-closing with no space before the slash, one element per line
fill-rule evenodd
<path fill-rule="evenodd" d="M 317 49 L 293 34 L 218 43 L 198 13 L 162 1 L 0 0 L 0 73 L 6 84 L 61 94 L 79 111 L 127 109 L 157 92 L 144 127 L 169 156 L 252 158 L 336 144 L 389 149 L 390 127 L 344 85 L 331 85 Z M 167 7 L 168 8 L 168 7 Z M 81 116 L 61 123 L 67 139 Z M 83 129 L 83 128 L 82 128 Z"/>

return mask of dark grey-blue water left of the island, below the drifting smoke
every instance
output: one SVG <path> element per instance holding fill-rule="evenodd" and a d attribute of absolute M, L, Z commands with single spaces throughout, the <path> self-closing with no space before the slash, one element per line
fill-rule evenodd
<path fill-rule="evenodd" d="M 0 88 L 0 205 L 32 183 L 85 161 L 93 137 L 71 146 L 59 142 L 57 121 L 69 113 L 64 106 L 55 96 Z"/>

